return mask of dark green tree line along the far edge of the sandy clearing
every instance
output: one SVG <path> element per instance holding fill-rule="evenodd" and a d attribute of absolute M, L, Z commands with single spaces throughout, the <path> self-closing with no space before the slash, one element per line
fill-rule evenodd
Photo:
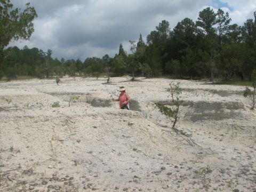
<path fill-rule="evenodd" d="M 27 10 L 30 11 L 27 13 L 27 17 L 30 15 L 27 18 L 30 19 L 30 25 L 25 26 L 30 34 L 23 34 L 25 39 L 34 31 L 33 26 L 31 29 L 31 20 L 37 15 L 31 9 Z M 199 12 L 197 21 L 185 18 L 173 29 L 170 29 L 168 21 L 163 20 L 147 35 L 146 42 L 141 34 L 137 41 L 129 41 L 129 54 L 120 44 L 113 58 L 106 54 L 102 58 L 90 57 L 84 61 L 53 59 L 50 49 L 47 52 L 36 47 L 29 49 L 27 46 L 23 49 L 17 46 L 4 49 L 10 42 L 7 39 L 7 43 L 0 47 L 0 77 L 98 77 L 100 74 L 110 77 L 128 74 L 132 79 L 137 76 L 164 75 L 212 80 L 216 77 L 226 80 L 235 77 L 251 81 L 252 71 L 256 69 L 256 20 L 247 19 L 243 26 L 230 25 L 230 21 L 228 12 L 219 9 L 215 13 L 207 7 Z M 5 35 L 2 23 L 0 27 L 1 35 Z M 15 26 L 12 30 L 15 31 Z M 21 35 L 18 33 L 13 37 L 22 38 Z"/>

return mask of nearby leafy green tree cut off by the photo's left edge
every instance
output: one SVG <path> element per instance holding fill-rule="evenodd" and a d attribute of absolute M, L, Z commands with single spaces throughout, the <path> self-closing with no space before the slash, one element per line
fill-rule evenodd
<path fill-rule="evenodd" d="M 11 39 L 14 39 L 14 41 L 19 39 L 28 40 L 34 32 L 33 20 L 37 17 L 37 13 L 34 7 L 29 5 L 27 3 L 25 10 L 21 12 L 18 8 L 13 9 L 10 0 L 0 0 L 0 78 L 3 76 L 14 77 L 21 69 L 25 73 L 33 71 L 33 68 L 28 65 L 23 67 L 7 66 L 5 61 L 9 52 L 4 51 Z"/>

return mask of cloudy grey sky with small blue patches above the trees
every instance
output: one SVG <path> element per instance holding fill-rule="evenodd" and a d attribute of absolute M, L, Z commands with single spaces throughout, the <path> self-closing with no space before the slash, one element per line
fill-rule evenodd
<path fill-rule="evenodd" d="M 173 28 L 184 18 L 197 20 L 199 11 L 210 6 L 229 13 L 231 23 L 243 25 L 253 19 L 255 0 L 11 0 L 23 9 L 30 2 L 38 18 L 30 41 L 11 42 L 22 49 L 51 49 L 53 58 L 81 59 L 113 57 L 122 43 L 129 52 L 129 40 L 146 41 L 158 23 L 167 20 Z"/>

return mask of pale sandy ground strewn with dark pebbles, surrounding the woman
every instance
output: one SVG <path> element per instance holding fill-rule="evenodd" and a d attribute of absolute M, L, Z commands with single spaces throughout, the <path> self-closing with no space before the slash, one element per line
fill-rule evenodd
<path fill-rule="evenodd" d="M 1 83 L 0 191 L 256 191 L 256 113 L 244 86 L 127 80 Z M 184 101 L 177 129 L 192 143 L 155 106 L 171 103 L 171 82 Z M 131 110 L 111 100 L 119 86 Z"/>

